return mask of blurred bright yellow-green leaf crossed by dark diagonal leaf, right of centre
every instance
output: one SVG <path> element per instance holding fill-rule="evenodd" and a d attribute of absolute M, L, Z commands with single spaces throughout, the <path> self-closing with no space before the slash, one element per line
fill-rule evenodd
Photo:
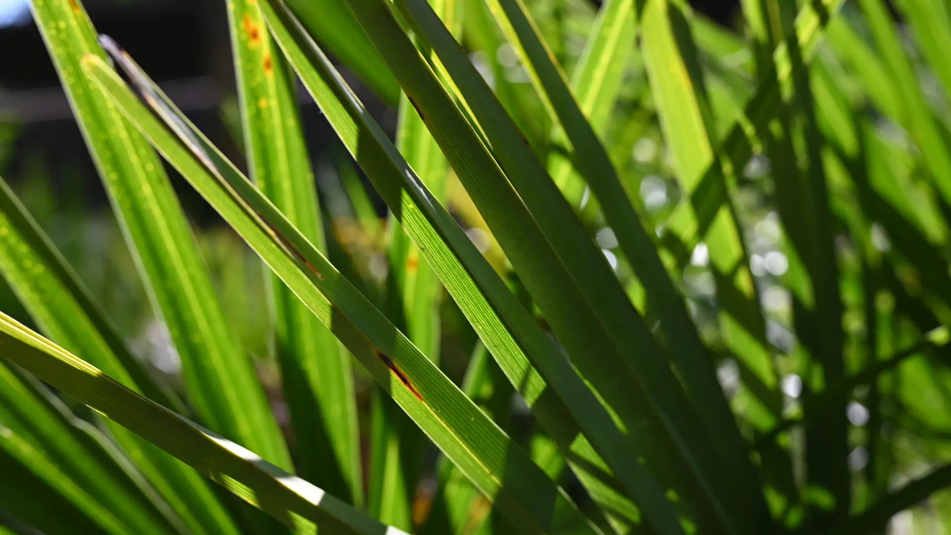
<path fill-rule="evenodd" d="M 680 8 L 666 0 L 649 0 L 642 14 L 641 29 L 645 66 L 650 87 L 656 95 L 655 105 L 670 148 L 671 161 L 681 190 L 691 191 L 709 162 L 718 165 L 713 151 L 712 111 L 695 46 Z M 671 216 L 670 228 L 676 231 L 684 225 L 692 226 L 691 222 L 685 221 L 691 217 L 693 214 L 689 210 L 681 211 L 680 217 L 677 214 Z M 767 387 L 776 386 L 777 379 L 766 344 L 766 325 L 760 315 L 742 233 L 729 201 L 715 216 L 706 239 L 720 304 L 719 320 L 724 343 L 746 367 L 754 370 Z M 670 336 L 677 334 L 670 333 Z M 752 508 L 753 511 L 736 518 L 746 519 L 741 525 L 745 524 L 748 532 L 761 531 L 769 523 L 766 503 L 756 476 L 744 462 L 746 445 L 730 421 L 728 406 L 717 391 L 719 386 L 716 381 L 711 382 L 712 370 L 708 365 L 705 374 L 691 371 L 687 375 L 688 370 L 701 366 L 700 361 L 682 360 L 679 368 L 693 386 L 691 390 L 696 403 L 717 412 L 715 422 L 708 420 L 708 425 L 712 426 L 710 432 L 719 436 L 731 471 L 738 474 L 739 510 Z M 718 431 L 717 427 L 721 429 Z"/>

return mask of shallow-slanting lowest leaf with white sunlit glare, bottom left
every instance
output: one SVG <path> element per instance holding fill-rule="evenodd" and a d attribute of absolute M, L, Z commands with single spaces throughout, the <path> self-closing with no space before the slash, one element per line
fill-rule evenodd
<path fill-rule="evenodd" d="M 0 313 L 0 356 L 162 447 L 282 523 L 313 533 L 404 533 L 317 486 L 122 386 L 100 369 Z"/>

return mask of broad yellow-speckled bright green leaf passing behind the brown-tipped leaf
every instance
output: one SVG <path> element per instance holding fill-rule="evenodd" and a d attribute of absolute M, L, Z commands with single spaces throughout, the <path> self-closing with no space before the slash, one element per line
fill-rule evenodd
<path fill-rule="evenodd" d="M 39 0 L 33 10 L 153 307 L 182 358 L 189 401 L 209 426 L 289 466 L 281 431 L 225 324 L 165 168 L 83 75 L 81 57 L 103 57 L 86 12 L 78 0 Z"/>

